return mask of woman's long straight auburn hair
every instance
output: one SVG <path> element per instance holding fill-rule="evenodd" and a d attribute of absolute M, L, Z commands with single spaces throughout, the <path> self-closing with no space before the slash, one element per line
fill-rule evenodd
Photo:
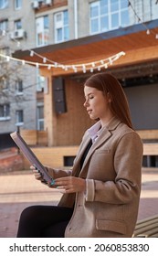
<path fill-rule="evenodd" d="M 111 112 L 120 119 L 122 123 L 126 123 L 133 129 L 129 103 L 120 82 L 115 77 L 110 73 L 97 73 L 90 76 L 84 83 L 84 86 L 96 88 L 99 91 L 103 91 L 105 95 L 109 93 L 111 97 Z"/>

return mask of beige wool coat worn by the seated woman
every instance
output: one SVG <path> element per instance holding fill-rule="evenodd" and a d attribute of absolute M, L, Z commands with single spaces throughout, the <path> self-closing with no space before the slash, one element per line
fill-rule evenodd
<path fill-rule="evenodd" d="M 79 173 L 80 158 L 89 143 L 86 132 L 72 169 L 72 176 L 87 179 L 87 197 L 77 193 L 65 237 L 132 237 L 141 191 L 142 141 L 127 125 L 112 119 L 92 144 Z M 71 175 L 47 170 L 54 178 Z M 65 207 L 73 204 L 74 194 L 65 194 L 59 202 Z"/>

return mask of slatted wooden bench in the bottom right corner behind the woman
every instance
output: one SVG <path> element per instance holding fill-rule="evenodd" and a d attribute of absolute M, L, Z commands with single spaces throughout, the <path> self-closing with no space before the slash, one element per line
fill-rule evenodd
<path fill-rule="evenodd" d="M 139 220 L 133 238 L 158 238 L 158 215 Z"/>

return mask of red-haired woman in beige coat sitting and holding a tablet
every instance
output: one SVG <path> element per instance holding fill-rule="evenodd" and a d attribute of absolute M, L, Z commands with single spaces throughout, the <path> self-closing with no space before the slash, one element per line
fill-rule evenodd
<path fill-rule="evenodd" d="M 72 171 L 47 167 L 63 189 L 57 207 L 26 208 L 17 237 L 132 237 L 142 169 L 142 141 L 132 128 L 128 102 L 111 74 L 84 84 L 84 106 L 97 121 L 83 136 Z M 31 167 L 37 179 L 42 177 Z"/>

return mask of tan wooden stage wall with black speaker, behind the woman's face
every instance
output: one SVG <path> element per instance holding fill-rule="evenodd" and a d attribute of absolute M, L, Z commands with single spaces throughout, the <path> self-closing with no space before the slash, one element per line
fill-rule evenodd
<path fill-rule="evenodd" d="M 49 95 L 52 93 L 51 101 L 50 97 L 46 96 L 45 121 L 48 133 L 52 133 L 48 136 L 53 138 L 51 144 L 50 141 L 48 142 L 49 146 L 79 145 L 83 133 L 93 124 L 83 106 L 85 101 L 83 85 L 66 77 L 65 92 L 67 112 L 61 114 L 56 113 L 53 104 L 51 105 L 51 101 L 54 101 L 52 88 L 49 90 Z"/>

